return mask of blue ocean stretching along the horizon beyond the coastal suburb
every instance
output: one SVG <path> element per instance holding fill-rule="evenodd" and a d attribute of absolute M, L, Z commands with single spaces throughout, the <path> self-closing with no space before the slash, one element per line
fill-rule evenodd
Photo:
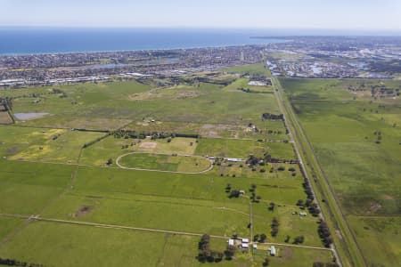
<path fill-rule="evenodd" d="M 0 54 L 80 53 L 283 42 L 263 30 L 1 27 Z"/>

